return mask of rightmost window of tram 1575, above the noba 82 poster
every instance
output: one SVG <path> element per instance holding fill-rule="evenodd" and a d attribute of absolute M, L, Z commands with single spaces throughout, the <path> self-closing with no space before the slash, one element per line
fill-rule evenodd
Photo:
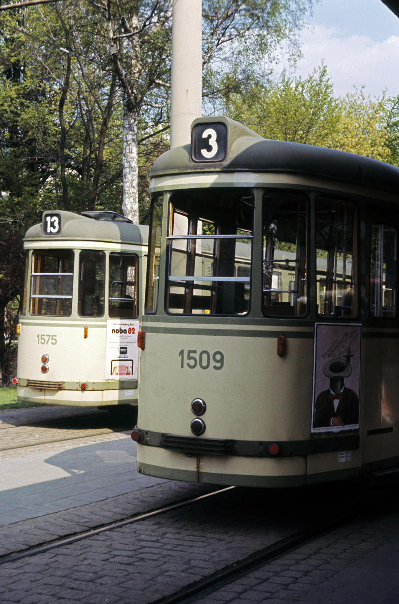
<path fill-rule="evenodd" d="M 110 252 L 109 309 L 110 318 L 135 319 L 137 309 L 138 255 Z"/>

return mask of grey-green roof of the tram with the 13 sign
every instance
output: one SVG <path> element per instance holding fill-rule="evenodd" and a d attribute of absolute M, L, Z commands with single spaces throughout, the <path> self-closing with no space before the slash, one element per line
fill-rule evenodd
<path fill-rule="evenodd" d="M 45 234 L 43 224 L 46 216 L 60 216 L 60 232 L 57 234 Z M 147 244 L 148 226 L 136 225 L 122 220 L 109 219 L 101 217 L 81 216 L 74 212 L 65 210 L 45 211 L 43 213 L 43 222 L 31 226 L 25 234 L 24 241 L 46 240 L 48 242 L 56 240 L 86 240 L 86 241 L 104 241 L 115 243 L 136 243 L 138 245 Z"/>

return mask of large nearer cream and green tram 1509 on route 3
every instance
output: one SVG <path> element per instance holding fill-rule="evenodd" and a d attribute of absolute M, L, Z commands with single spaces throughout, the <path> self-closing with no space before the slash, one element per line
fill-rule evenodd
<path fill-rule="evenodd" d="M 399 469 L 399 170 L 199 118 L 150 191 L 139 472 L 292 487 Z"/>

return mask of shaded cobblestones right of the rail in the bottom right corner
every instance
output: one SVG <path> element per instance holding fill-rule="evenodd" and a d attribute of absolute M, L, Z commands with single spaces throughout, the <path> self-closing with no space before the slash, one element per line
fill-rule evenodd
<path fill-rule="evenodd" d="M 201 604 L 398 604 L 399 509 L 390 507 L 314 539 Z"/>

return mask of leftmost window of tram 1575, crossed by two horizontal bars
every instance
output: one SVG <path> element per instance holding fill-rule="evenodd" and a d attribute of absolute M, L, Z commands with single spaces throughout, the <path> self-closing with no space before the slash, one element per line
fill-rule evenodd
<path fill-rule="evenodd" d="M 30 314 L 71 316 L 74 252 L 37 250 L 32 256 Z"/>

